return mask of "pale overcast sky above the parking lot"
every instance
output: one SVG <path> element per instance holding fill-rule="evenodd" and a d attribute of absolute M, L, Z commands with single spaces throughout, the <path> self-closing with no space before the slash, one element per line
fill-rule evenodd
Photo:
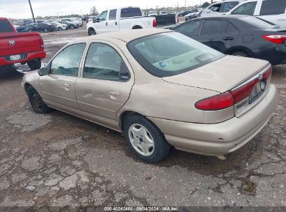
<path fill-rule="evenodd" d="M 194 6 L 210 0 L 186 0 L 186 6 Z M 86 14 L 95 6 L 99 12 L 108 8 L 140 6 L 145 8 L 184 6 L 185 0 L 31 0 L 35 17 L 47 15 Z M 0 17 L 31 18 L 28 0 L 0 0 Z"/>

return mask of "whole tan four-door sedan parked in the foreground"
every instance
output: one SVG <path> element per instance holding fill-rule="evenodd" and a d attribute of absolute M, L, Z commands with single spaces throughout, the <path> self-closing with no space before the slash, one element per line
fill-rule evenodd
<path fill-rule="evenodd" d="M 124 132 L 138 158 L 159 162 L 171 146 L 222 156 L 251 141 L 278 104 L 271 73 L 268 61 L 138 29 L 70 43 L 22 86 L 35 112 L 52 107 Z"/>

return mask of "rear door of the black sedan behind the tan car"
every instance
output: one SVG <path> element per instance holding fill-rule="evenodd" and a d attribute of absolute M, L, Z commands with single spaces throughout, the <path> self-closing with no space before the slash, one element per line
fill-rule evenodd
<path fill-rule="evenodd" d="M 227 20 L 205 20 L 197 39 L 219 52 L 225 53 L 235 44 L 239 30 Z"/>

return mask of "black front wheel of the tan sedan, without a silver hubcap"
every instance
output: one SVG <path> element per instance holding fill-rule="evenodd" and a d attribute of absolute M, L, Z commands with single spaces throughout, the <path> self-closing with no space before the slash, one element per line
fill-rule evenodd
<path fill-rule="evenodd" d="M 33 86 L 29 86 L 29 88 L 27 89 L 27 94 L 31 106 L 33 107 L 33 110 L 35 112 L 39 114 L 47 114 L 53 110 L 51 109 L 51 107 L 48 107 L 46 103 L 44 103 L 44 101 L 40 97 L 40 94 L 37 91 L 35 91 Z"/>

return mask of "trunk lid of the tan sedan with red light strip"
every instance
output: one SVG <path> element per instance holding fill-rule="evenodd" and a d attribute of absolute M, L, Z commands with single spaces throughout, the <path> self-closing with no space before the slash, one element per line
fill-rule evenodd
<path fill-rule="evenodd" d="M 235 116 L 241 116 L 267 93 L 272 73 L 270 68 L 267 61 L 225 56 L 206 66 L 163 79 L 174 84 L 228 93 L 228 96 L 231 93 Z"/>

